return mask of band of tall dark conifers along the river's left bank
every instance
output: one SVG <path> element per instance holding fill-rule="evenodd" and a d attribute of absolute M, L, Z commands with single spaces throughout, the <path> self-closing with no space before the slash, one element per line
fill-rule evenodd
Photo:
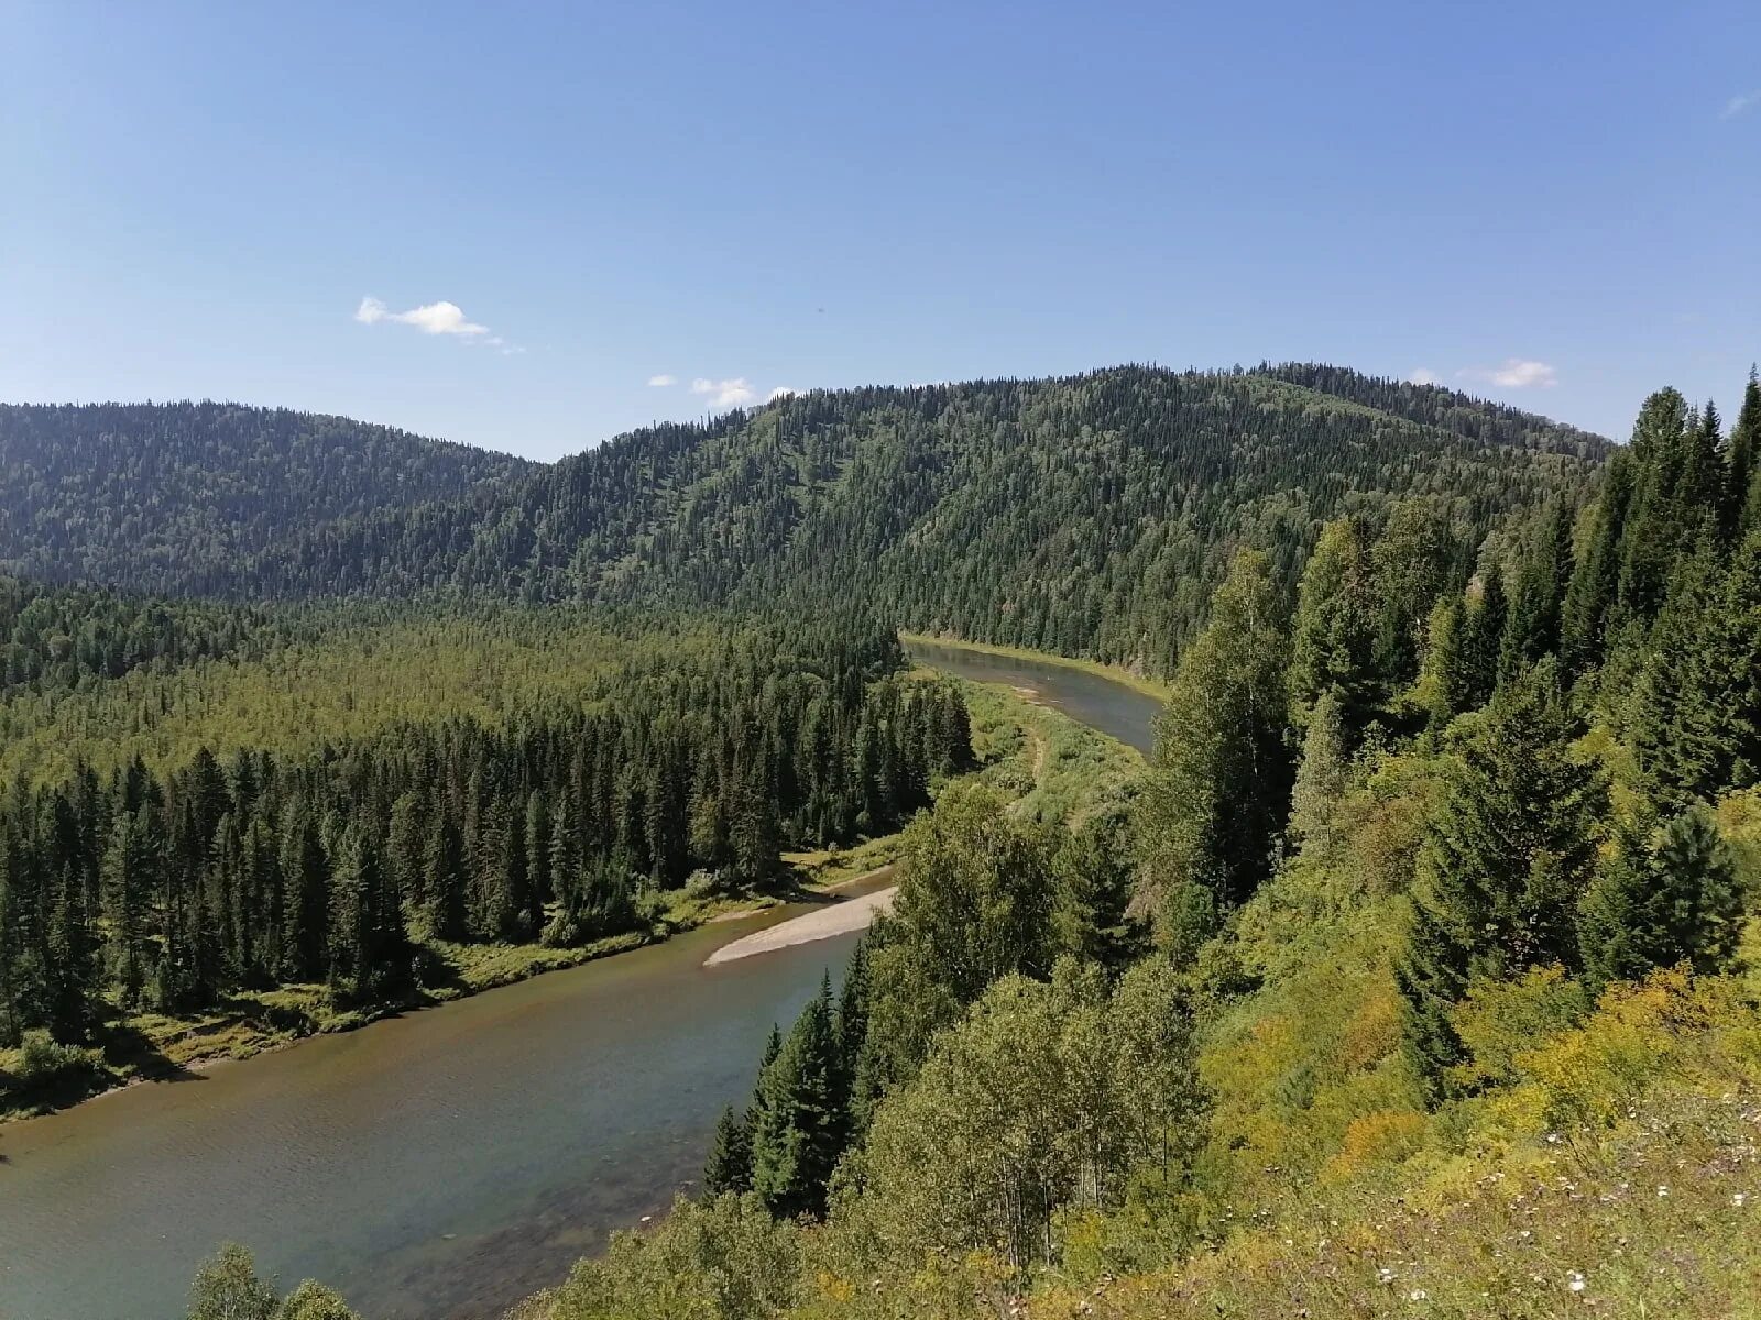
<path fill-rule="evenodd" d="M 687 884 L 770 884 L 782 848 L 889 831 L 970 764 L 958 688 L 900 662 L 888 634 L 799 655 L 752 630 L 507 727 L 16 780 L 0 1044 L 81 1042 L 111 1010 L 239 987 L 379 1001 L 444 977 L 435 945 L 578 945 L 652 924 Z"/>

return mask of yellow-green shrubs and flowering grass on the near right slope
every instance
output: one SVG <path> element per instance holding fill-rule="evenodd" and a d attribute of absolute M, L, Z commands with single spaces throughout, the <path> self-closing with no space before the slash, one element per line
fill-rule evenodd
<path fill-rule="evenodd" d="M 1224 940 L 1215 961 L 1259 984 L 1201 1052 L 1212 1248 L 1115 1280 L 1088 1251 L 1109 1228 L 1090 1225 L 1030 1316 L 1761 1315 L 1752 972 L 1662 970 L 1594 1003 L 1560 968 L 1476 984 L 1455 1014 L 1467 1096 L 1425 1111 L 1391 957 L 1395 859 L 1433 773 L 1409 755 L 1359 776 L 1335 845 L 1286 866 Z M 1738 850 L 1761 840 L 1754 794 L 1719 815 Z"/>

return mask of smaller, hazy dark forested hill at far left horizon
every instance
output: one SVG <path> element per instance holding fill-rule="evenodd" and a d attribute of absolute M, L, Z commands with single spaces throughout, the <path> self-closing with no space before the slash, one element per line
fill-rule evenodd
<path fill-rule="evenodd" d="M 236 403 L 0 405 L 0 570 L 155 591 L 386 505 L 534 465 L 347 417 Z"/>

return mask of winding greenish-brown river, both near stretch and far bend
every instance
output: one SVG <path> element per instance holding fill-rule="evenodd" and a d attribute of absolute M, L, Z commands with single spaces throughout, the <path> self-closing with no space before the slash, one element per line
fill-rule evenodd
<path fill-rule="evenodd" d="M 1157 702 L 1131 688 L 912 649 L 1148 744 Z M 0 1320 L 173 1320 L 227 1239 L 370 1320 L 500 1315 L 690 1188 L 771 1023 L 858 936 L 704 957 L 801 910 L 0 1126 Z"/>

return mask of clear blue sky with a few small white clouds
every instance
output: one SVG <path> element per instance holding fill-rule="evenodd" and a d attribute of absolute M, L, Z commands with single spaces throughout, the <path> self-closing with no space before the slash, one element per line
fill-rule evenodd
<path fill-rule="evenodd" d="M 0 400 L 555 458 L 1270 357 L 1625 436 L 1761 357 L 1752 0 L 0 0 Z"/>

